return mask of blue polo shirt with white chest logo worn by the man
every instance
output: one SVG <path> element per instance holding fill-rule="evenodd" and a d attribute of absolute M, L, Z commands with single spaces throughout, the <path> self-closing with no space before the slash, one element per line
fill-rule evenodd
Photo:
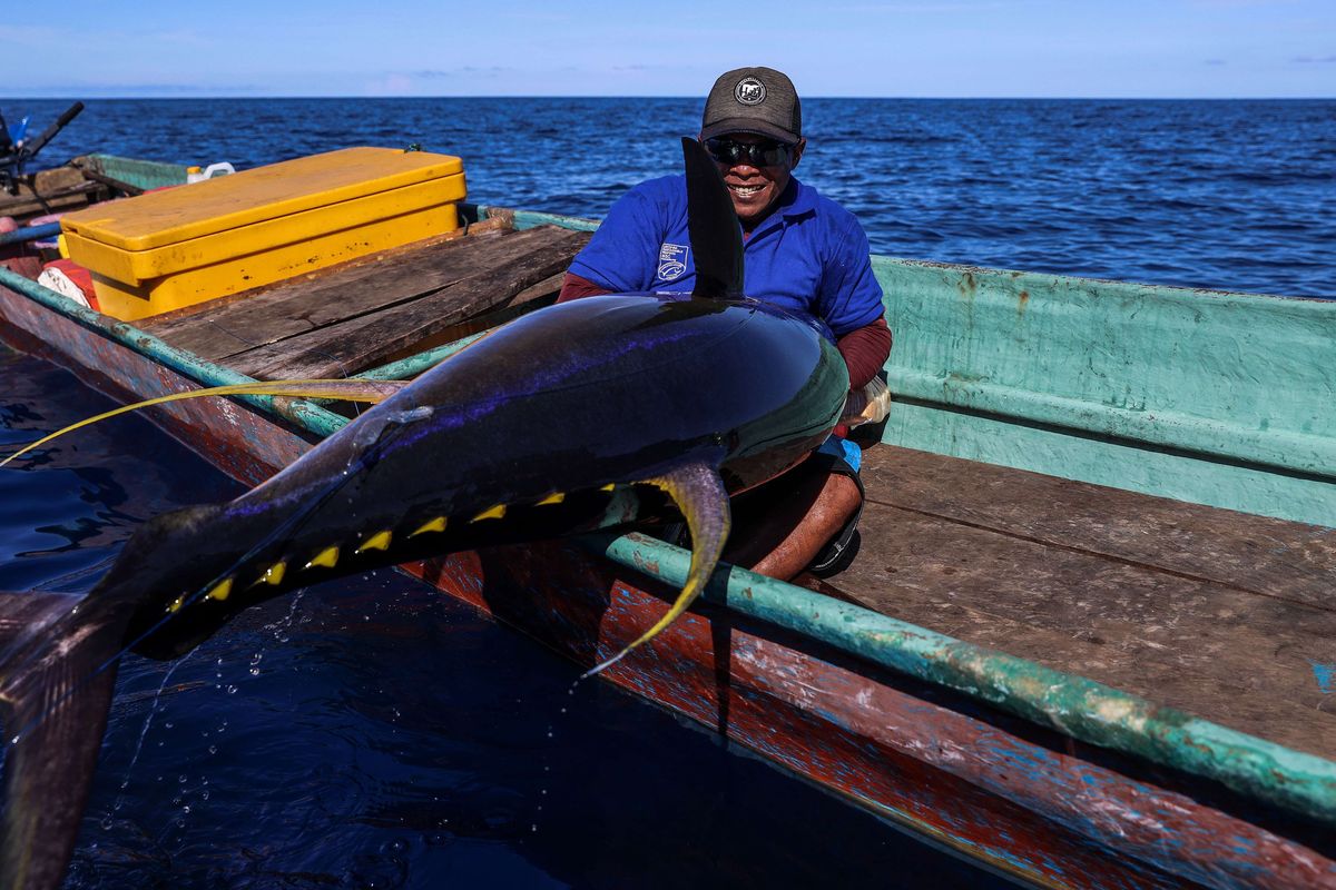
<path fill-rule="evenodd" d="M 836 338 L 882 316 L 867 235 L 847 209 L 791 179 L 743 247 L 743 291 L 826 323 Z M 570 271 L 616 294 L 689 294 L 696 264 L 687 234 L 687 177 L 627 192 Z"/>

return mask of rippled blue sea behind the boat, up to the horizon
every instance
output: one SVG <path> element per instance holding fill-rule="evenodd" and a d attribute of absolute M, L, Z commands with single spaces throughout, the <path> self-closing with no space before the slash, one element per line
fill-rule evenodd
<path fill-rule="evenodd" d="M 65 101 L 0 100 L 41 127 Z M 603 216 L 676 172 L 701 99 L 99 100 L 43 152 L 238 167 L 350 144 L 464 157 L 470 200 Z M 1336 100 L 803 103 L 803 181 L 874 252 L 1336 298 Z"/>

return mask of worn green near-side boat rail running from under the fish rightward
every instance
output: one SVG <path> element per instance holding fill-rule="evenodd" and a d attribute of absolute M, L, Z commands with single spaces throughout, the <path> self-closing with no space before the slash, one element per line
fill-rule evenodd
<path fill-rule="evenodd" d="M 641 534 L 596 534 L 580 542 L 669 586 L 687 580 L 691 554 L 680 547 Z M 703 595 L 1090 745 L 1182 770 L 1336 826 L 1336 763 L 1325 758 L 736 566 L 715 572 Z"/>

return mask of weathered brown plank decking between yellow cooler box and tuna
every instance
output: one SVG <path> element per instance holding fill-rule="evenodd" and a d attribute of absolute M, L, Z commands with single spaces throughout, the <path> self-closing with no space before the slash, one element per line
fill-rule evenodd
<path fill-rule="evenodd" d="M 190 312 L 146 319 L 167 343 L 258 379 L 343 378 L 462 336 L 560 275 L 589 240 L 554 226 L 386 251 Z"/>

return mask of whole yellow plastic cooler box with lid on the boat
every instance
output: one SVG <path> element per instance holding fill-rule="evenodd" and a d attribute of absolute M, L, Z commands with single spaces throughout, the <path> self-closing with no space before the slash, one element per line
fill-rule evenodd
<path fill-rule="evenodd" d="M 273 284 L 458 227 L 464 161 L 345 148 L 60 220 L 102 311 L 124 320 Z"/>

